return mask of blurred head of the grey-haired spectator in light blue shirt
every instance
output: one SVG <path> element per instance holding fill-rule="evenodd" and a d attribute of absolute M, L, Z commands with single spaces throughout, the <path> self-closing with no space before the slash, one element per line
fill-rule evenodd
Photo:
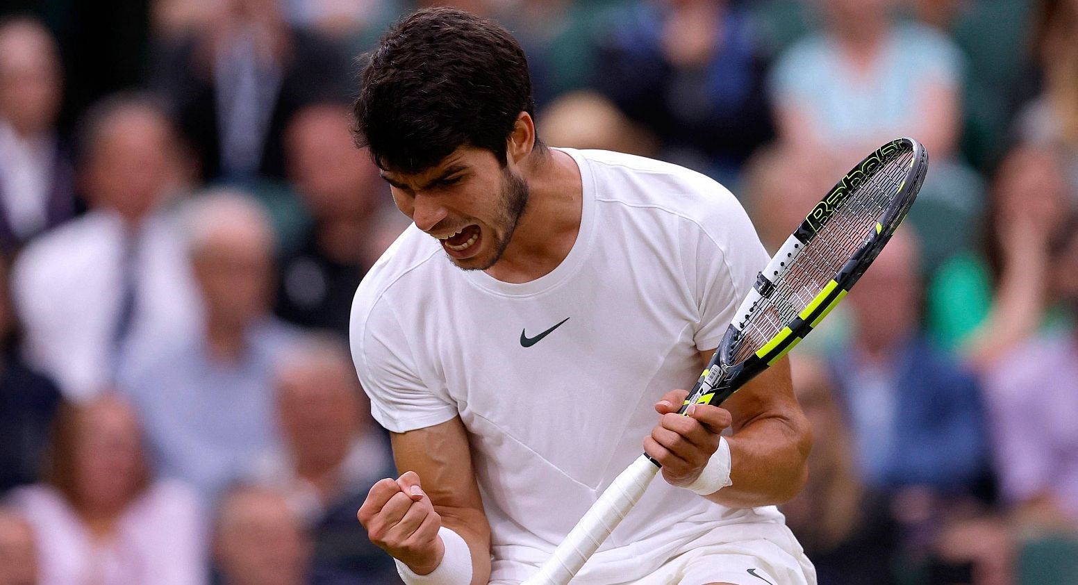
<path fill-rule="evenodd" d="M 192 266 L 210 322 L 245 329 L 270 309 L 273 235 L 248 217 L 218 220 L 192 250 Z"/>

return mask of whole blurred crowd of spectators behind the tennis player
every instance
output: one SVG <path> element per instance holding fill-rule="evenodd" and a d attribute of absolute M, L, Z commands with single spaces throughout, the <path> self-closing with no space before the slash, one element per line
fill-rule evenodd
<path fill-rule="evenodd" d="M 397 583 L 347 349 L 406 220 L 353 145 L 427 0 L 0 9 L 0 585 Z M 728 185 L 772 251 L 883 142 L 910 221 L 793 358 L 821 584 L 1078 583 L 1078 1 L 459 0 L 540 138 Z M 11 8 L 8 8 L 8 6 Z M 357 58 L 358 57 L 358 58 Z"/>

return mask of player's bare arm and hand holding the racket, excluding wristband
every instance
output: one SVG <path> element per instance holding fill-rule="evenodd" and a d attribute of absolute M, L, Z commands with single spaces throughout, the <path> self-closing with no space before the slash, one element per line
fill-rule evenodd
<path fill-rule="evenodd" d="M 701 352 L 710 359 L 713 351 Z M 707 496 L 730 507 L 779 504 L 791 500 L 808 477 L 805 460 L 812 432 L 793 398 L 787 359 L 745 385 L 722 407 L 696 405 L 689 417 L 677 415 L 685 390 L 655 405 L 660 422 L 645 440 L 645 450 L 663 464 L 663 477 L 676 486 L 691 484 L 715 454 L 728 426 L 733 485 Z"/>

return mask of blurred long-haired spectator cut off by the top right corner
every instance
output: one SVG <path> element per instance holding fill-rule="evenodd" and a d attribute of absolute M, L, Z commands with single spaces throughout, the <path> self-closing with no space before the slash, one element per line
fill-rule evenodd
<path fill-rule="evenodd" d="M 1045 88 L 1019 114 L 1022 140 L 1056 151 L 1078 201 L 1078 3 L 1040 0 L 1034 37 Z"/>

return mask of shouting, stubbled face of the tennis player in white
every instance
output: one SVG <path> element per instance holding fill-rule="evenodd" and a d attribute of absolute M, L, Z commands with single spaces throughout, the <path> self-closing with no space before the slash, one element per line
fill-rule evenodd
<path fill-rule="evenodd" d="M 424 172 L 382 176 L 397 208 L 466 270 L 485 270 L 501 259 L 528 200 L 523 177 L 473 147 L 458 148 Z"/>

